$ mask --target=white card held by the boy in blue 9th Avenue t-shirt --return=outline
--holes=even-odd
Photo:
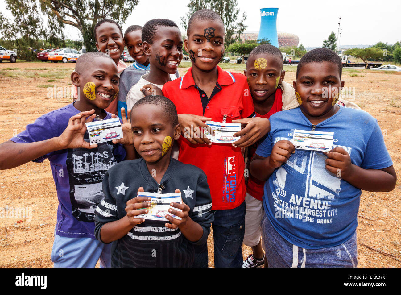
[[[294,130],[292,144],[296,149],[327,152],[332,149],[334,132]]]

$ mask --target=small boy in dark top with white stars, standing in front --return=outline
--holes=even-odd
[[[144,116],[146,114],[146,116]],[[146,96],[132,109],[134,146],[141,159],[109,169],[103,179],[105,195],[96,210],[96,238],[113,242],[113,267],[191,267],[194,246],[207,242],[211,196],[207,178],[195,166],[171,157],[180,137],[177,111],[164,96]],[[124,189],[119,189],[123,187]],[[148,213],[149,197],[140,191],[182,194],[183,203],[171,203],[168,220],[136,218]],[[144,208],[145,207],[145,208]]]

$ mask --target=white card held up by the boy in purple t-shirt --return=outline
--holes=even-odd
[[[123,129],[119,118],[85,123],[89,133],[89,143],[95,144],[123,138]]]

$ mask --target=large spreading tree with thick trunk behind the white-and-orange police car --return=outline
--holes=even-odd
[[[12,0],[7,0],[12,1]],[[35,5],[36,0],[28,0]],[[96,51],[93,28],[103,19],[110,18],[122,24],[139,0],[40,0],[41,9],[49,18],[51,31],[61,31],[66,24],[77,28],[83,37],[86,51]]]

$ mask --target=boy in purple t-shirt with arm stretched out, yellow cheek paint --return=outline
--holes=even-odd
[[[59,199],[54,266],[95,267],[100,258],[101,266],[109,267],[110,246],[95,239],[93,218],[107,169],[134,159],[131,126],[123,116],[122,140],[89,145],[85,121],[110,119],[104,109],[117,97],[119,77],[111,57],[100,52],[81,55],[71,81],[83,99],[41,116],[0,144],[0,167],[49,159]]]

